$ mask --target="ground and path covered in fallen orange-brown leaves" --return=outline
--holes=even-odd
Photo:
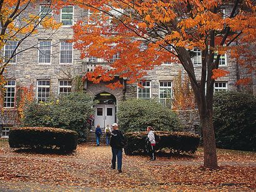
[[[218,150],[219,170],[202,168],[202,149],[192,156],[123,158],[111,170],[109,146],[79,145],[72,155],[14,151],[0,139],[0,191],[255,190],[256,153]]]

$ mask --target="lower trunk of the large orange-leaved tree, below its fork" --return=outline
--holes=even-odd
[[[202,113],[202,112],[200,112]],[[212,114],[200,114],[204,138],[204,166],[210,169],[218,168]]]

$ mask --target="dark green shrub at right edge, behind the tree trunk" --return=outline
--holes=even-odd
[[[256,150],[256,97],[228,91],[214,95],[214,129],[219,148]]]

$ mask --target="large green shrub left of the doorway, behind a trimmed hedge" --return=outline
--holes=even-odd
[[[51,102],[29,103],[22,125],[74,130],[79,135],[79,142],[84,142],[89,130],[87,119],[94,113],[93,105],[93,98],[82,92],[72,92]]]

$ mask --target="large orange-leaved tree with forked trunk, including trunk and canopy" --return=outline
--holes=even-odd
[[[111,69],[97,67],[87,79],[95,83],[115,74],[133,83],[163,61],[179,62],[187,72],[199,107],[204,137],[204,166],[217,168],[212,123],[214,82],[227,71],[219,69],[221,55],[237,57],[254,71],[255,6],[250,0],[105,0],[76,1],[90,9],[89,22],[74,26],[75,47],[82,57],[100,57]],[[200,77],[192,62],[202,53]],[[243,57],[243,55],[247,55]],[[249,57],[250,55],[250,57]],[[116,59],[112,59],[112,58]],[[249,79],[240,80],[240,83]],[[112,87],[121,86],[119,82]]]

